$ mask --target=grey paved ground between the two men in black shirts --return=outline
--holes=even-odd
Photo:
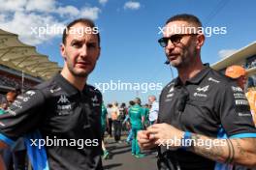
[[[107,140],[107,149],[111,156],[103,160],[105,170],[156,170],[155,153],[144,152],[143,158],[132,156],[131,146],[125,142],[115,143],[112,139]]]

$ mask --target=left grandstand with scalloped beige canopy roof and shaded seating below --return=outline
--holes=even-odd
[[[10,90],[33,87],[60,70],[57,63],[38,53],[35,46],[20,42],[16,34],[0,29],[0,98]]]

